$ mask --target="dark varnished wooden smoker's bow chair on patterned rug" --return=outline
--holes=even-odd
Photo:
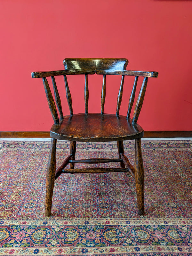
[[[143,137],[143,129],[137,124],[137,120],[140,114],[140,110],[143,104],[144,95],[147,87],[148,77],[157,77],[158,72],[144,72],[144,71],[128,71],[126,66],[128,64],[127,59],[75,59],[67,58],[63,61],[65,70],[60,71],[47,71],[47,72],[33,72],[33,78],[43,78],[44,89],[51,110],[51,114],[54,120],[54,124],[50,130],[51,149],[47,165],[46,176],[46,196],[45,196],[45,215],[51,215],[52,208],[52,195],[54,181],[60,176],[61,173],[100,173],[100,172],[130,172],[136,181],[137,190],[137,204],[138,214],[144,214],[144,198],[143,198],[143,160],[141,154],[141,140]],[[68,75],[84,75],[84,101],[85,101],[85,113],[73,114],[71,93],[68,86]],[[103,84],[101,89],[101,111],[100,113],[88,113],[88,75],[103,75]],[[106,95],[106,76],[107,75],[119,75],[122,76],[119,93],[117,96],[116,114],[105,114],[104,103]],[[50,90],[46,77],[51,76],[54,98]],[[68,101],[70,115],[63,116],[60,95],[55,82],[55,76],[64,76],[66,97]],[[123,85],[125,76],[135,76],[132,92],[128,104],[127,116],[119,115],[119,109],[122,101]],[[134,113],[132,119],[130,118],[131,109],[133,106],[136,86],[138,77],[143,76],[143,82],[140,88],[140,92],[135,104]],[[101,86],[101,85],[100,85]],[[57,108],[56,108],[56,105]],[[57,109],[60,115],[58,117]],[[56,170],[56,142],[59,140],[70,141],[70,152],[63,164]],[[124,155],[124,140],[135,140],[135,166],[133,167],[128,158]],[[76,154],[76,141],[87,142],[105,142],[116,141],[119,158],[118,159],[75,159]],[[120,168],[83,168],[74,169],[75,163],[109,163],[120,162]],[[65,167],[70,164],[69,169]]]

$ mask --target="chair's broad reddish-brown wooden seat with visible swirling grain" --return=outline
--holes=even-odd
[[[53,124],[50,135],[59,140],[119,141],[142,138],[143,129],[126,116],[89,113],[64,116],[60,124]]]

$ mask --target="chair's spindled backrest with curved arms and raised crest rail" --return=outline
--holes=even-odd
[[[82,58],[66,58],[63,60],[65,70],[60,71],[47,71],[47,72],[33,72],[32,77],[34,78],[43,78],[44,89],[47,96],[47,101],[52,113],[52,117],[55,124],[59,124],[59,117],[57,114],[56,105],[60,114],[60,118],[63,119],[63,112],[61,106],[60,95],[57,89],[54,76],[64,76],[66,97],[68,101],[70,115],[73,115],[72,108],[72,99],[71,93],[68,86],[68,75],[85,75],[85,86],[84,86],[84,101],[85,101],[85,114],[88,114],[88,101],[89,101],[89,89],[88,89],[88,75],[99,74],[103,75],[103,84],[101,90],[101,114],[104,114],[104,104],[105,104],[105,95],[106,95],[106,75],[121,75],[121,84],[119,88],[119,93],[117,96],[117,106],[116,106],[116,116],[119,115],[119,110],[122,101],[123,95],[123,86],[124,86],[124,76],[135,76],[135,80],[132,87],[131,96],[128,104],[127,118],[130,118],[133,102],[135,99],[136,86],[138,82],[138,77],[143,76],[143,82],[140,88],[139,96],[137,98],[135,109],[133,113],[132,123],[137,123],[140,110],[143,104],[145,91],[147,87],[148,77],[157,77],[158,72],[147,72],[147,71],[128,71],[126,70],[128,60],[127,59],[82,59]],[[52,84],[54,89],[55,102],[52,97],[52,92],[50,90],[47,76],[52,77]]]

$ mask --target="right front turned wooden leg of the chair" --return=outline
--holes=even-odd
[[[135,140],[135,180],[137,189],[138,214],[144,215],[144,170],[141,153],[141,139]]]

